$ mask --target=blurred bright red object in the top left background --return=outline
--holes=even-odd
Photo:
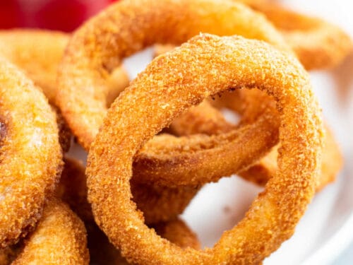
[[[75,30],[114,0],[0,1],[0,28]]]

